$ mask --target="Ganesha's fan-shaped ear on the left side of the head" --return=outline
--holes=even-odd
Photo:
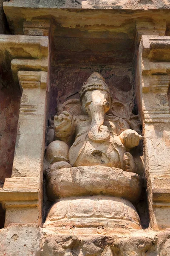
[[[79,99],[68,99],[62,105],[58,105],[57,114],[61,114],[62,111],[67,111],[73,116],[83,115]]]

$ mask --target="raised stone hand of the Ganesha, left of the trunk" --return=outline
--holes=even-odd
[[[72,134],[74,119],[67,111],[63,111],[59,116],[54,116],[54,131],[56,137],[68,137]]]

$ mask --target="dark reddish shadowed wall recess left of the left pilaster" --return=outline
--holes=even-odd
[[[21,92],[13,82],[11,69],[0,67],[0,183],[11,177]]]

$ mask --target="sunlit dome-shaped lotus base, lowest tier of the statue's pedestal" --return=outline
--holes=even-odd
[[[141,229],[133,204],[111,196],[63,198],[51,207],[45,225]]]

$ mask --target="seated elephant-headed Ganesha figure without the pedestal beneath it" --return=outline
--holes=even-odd
[[[134,172],[135,164],[129,151],[142,137],[131,130],[125,120],[120,124],[114,122],[113,115],[105,115],[110,109],[111,97],[105,79],[99,73],[93,73],[83,84],[80,101],[84,115],[72,116],[63,111],[54,116],[55,136],[65,145],[59,141],[52,143],[47,150],[47,159],[51,163],[57,161],[58,168],[60,164],[64,165],[64,160],[65,165],[69,161],[73,167],[109,166]],[[69,157],[64,158],[68,145],[71,145]],[[59,159],[61,151],[64,152]]]

